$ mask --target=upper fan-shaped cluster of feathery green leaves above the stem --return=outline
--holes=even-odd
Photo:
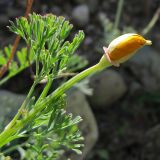
[[[66,41],[72,27],[64,17],[33,14],[28,20],[24,17],[16,19],[16,24],[11,22],[9,28],[31,47],[35,59],[43,65],[38,71],[41,76],[54,77],[66,70],[69,58],[84,39],[84,33],[79,31],[71,42]]]

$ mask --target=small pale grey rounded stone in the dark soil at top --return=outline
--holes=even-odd
[[[89,22],[89,8],[87,5],[79,5],[72,11],[72,17],[79,26],[85,26]]]

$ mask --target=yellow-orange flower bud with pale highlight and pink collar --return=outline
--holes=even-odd
[[[108,46],[103,47],[109,62],[114,66],[119,66],[133,56],[138,49],[145,45],[151,45],[150,40],[144,39],[135,33],[124,34],[114,39]]]

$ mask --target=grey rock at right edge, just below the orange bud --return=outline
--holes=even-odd
[[[126,64],[146,91],[160,89],[160,55],[151,47],[144,47]]]

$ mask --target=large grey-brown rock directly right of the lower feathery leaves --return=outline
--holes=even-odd
[[[82,150],[82,155],[73,154],[70,158],[82,160],[85,159],[85,156],[92,149],[98,139],[97,123],[87,99],[82,92],[76,89],[68,95],[67,111],[73,113],[75,116],[80,115],[82,117],[83,121],[80,123],[80,130],[85,139],[85,147]]]

